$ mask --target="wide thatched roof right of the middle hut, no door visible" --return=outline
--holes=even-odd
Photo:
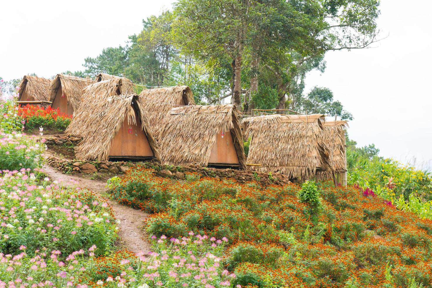
[[[248,169],[274,171],[307,180],[317,170],[328,169],[323,141],[322,114],[265,115],[243,120],[245,136],[251,138]]]

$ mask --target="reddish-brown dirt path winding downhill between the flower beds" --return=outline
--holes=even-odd
[[[66,175],[49,165],[44,165],[43,168],[51,180],[57,180],[59,184],[63,184],[64,186],[88,188],[99,195],[106,190],[105,182],[103,181]],[[78,183],[73,184],[73,182]],[[140,227],[143,226],[143,221],[148,217],[148,214],[137,209],[123,206],[117,202],[111,201],[110,199],[107,200],[114,210],[115,218],[121,221],[119,224],[120,231],[118,232],[118,235],[121,237],[121,244],[134,253],[143,251],[145,255],[147,255],[147,253],[151,251],[151,244],[146,240],[148,239],[148,236]]]

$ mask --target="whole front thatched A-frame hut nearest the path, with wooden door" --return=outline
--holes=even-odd
[[[75,148],[77,159],[159,160],[158,144],[150,131],[148,115],[136,94],[113,93],[112,96],[95,98],[95,102],[83,102],[66,131],[69,135],[83,138]]]

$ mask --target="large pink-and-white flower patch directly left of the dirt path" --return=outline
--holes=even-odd
[[[48,178],[38,182],[22,169],[0,178],[0,252],[17,254],[41,248],[71,253],[97,245],[106,253],[117,238],[107,203],[80,189],[59,187]]]

